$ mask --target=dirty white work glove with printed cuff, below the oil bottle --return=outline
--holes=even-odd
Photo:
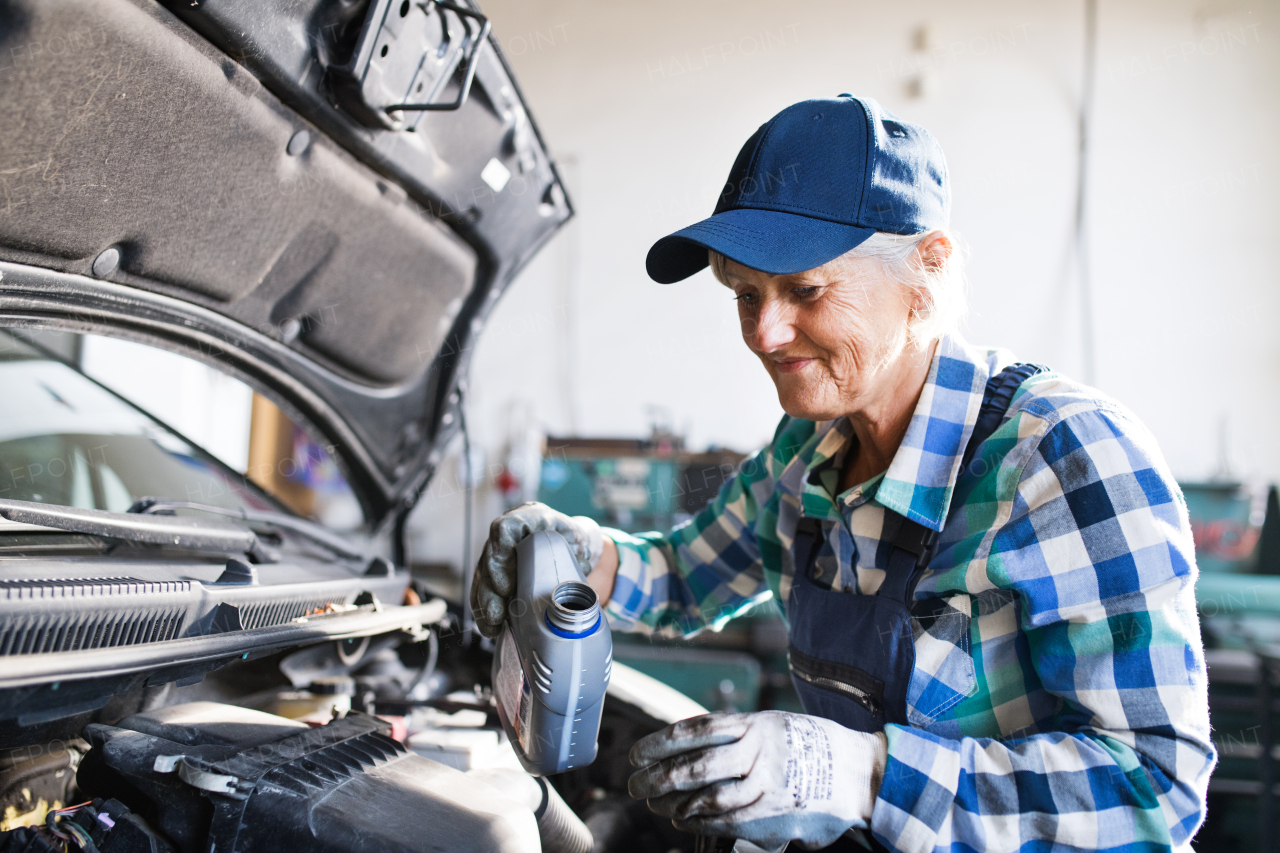
[[[710,713],[636,742],[627,789],[686,833],[818,849],[869,824],[886,748],[823,717]]]

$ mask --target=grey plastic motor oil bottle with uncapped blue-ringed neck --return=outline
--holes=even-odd
[[[612,665],[600,602],[564,537],[525,537],[493,658],[498,717],[525,770],[545,776],[595,761]]]

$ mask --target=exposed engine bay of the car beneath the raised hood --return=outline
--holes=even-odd
[[[458,626],[445,613],[425,634],[308,646],[88,713],[6,720],[0,850],[694,849],[626,793],[630,745],[694,703],[617,665],[596,761],[531,776],[497,719],[488,642]]]

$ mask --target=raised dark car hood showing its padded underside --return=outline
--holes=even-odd
[[[372,525],[407,510],[485,318],[572,213],[456,3],[0,6],[0,325],[211,362],[333,443]]]

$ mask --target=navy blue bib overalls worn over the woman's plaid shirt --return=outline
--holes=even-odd
[[[964,471],[991,437],[1018,391],[1047,368],[1019,364],[987,382],[973,435],[961,457]],[[928,569],[937,534],[892,510],[884,510],[882,540],[892,543],[884,581],[874,596],[850,594],[812,579],[823,530],[818,519],[801,517],[792,556],[795,576],[787,601],[791,622],[791,680],[814,716],[858,731],[881,731],[887,722],[908,725],[906,690],[915,669],[913,611],[927,619],[941,612],[941,598],[913,602]]]

